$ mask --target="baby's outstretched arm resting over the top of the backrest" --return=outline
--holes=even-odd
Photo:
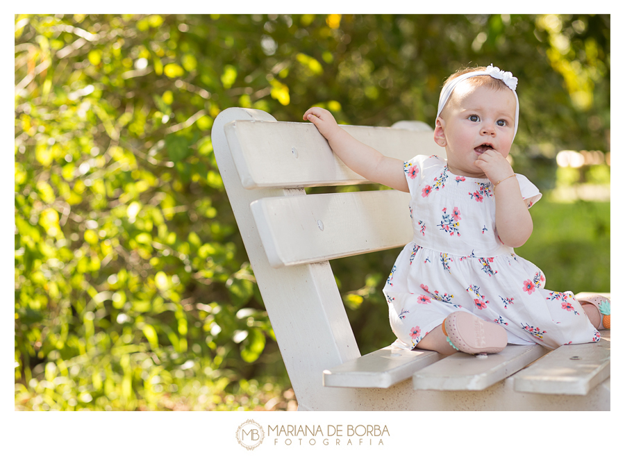
[[[409,192],[401,160],[383,156],[376,149],[353,138],[338,126],[333,115],[324,108],[310,108],[304,113],[303,119],[315,124],[334,153],[354,172],[369,181]]]

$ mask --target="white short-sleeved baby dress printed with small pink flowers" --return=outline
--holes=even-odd
[[[437,156],[404,163],[414,238],[392,267],[383,292],[396,344],[413,349],[454,311],[503,326],[512,344],[599,341],[572,292],[544,289],[544,274],[499,240],[493,185],[456,176]],[[529,207],[542,197],[517,174]]]

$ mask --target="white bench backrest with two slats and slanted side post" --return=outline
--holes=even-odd
[[[444,156],[422,123],[342,127],[386,156]],[[360,352],[328,260],[409,242],[410,196],[396,190],[307,195],[303,188],[367,183],[313,124],[229,108],[211,135],[299,408],[331,410],[347,393],[323,390],[322,372]]]

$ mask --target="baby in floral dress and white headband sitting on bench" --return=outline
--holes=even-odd
[[[553,349],[601,338],[608,299],[546,290],[541,270],[514,253],[530,237],[529,208],[542,197],[506,159],[519,123],[516,86],[492,65],[447,79],[434,129],[447,160],[402,162],[353,138],[323,108],[303,115],[354,172],[410,192],[414,238],[383,290],[406,349],[481,354],[508,342]]]

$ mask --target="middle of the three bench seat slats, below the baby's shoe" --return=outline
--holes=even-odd
[[[548,349],[533,344],[508,344],[499,354],[477,358],[458,352],[412,376],[415,390],[483,390],[519,371]]]

